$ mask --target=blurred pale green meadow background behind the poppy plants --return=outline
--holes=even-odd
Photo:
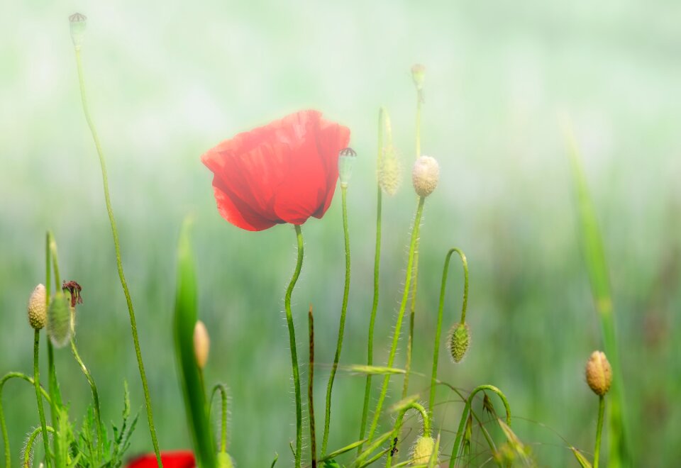
[[[199,313],[212,344],[206,379],[232,393],[229,452],[243,467],[269,466],[275,452],[289,464],[295,427],[282,310],[294,230],[248,233],[223,221],[212,174],[199,161],[239,131],[301,108],[318,108],[352,131],[353,274],[341,364],[359,363],[371,309],[377,109],[389,109],[406,170],[399,193],[384,198],[375,362],[385,362],[416,205],[409,67],[421,62],[423,153],[440,162],[441,182],[421,230],[415,369],[428,372],[442,262],[449,247],[460,247],[470,262],[472,347],[462,364],[441,359],[441,379],[504,390],[516,433],[541,466],[577,466],[568,444],[592,451],[597,398],[583,366],[602,348],[602,335],[580,253],[563,113],[582,147],[604,236],[636,466],[681,458],[681,323],[674,313],[681,306],[680,4],[153,4],[17,1],[0,8],[1,374],[31,370],[26,301],[44,282],[51,229],[62,277],[83,286],[77,340],[103,418],[118,420],[127,379],[140,409],[131,453],[152,448],[99,163],[79,101],[67,17],[80,11],[88,16],[86,85],[162,449],[190,444],[170,324],[175,246],[182,218],[192,214]],[[341,308],[340,196],[303,233],[294,316],[304,361],[306,311],[314,305],[319,427]],[[447,327],[460,311],[462,276],[453,264]],[[72,416],[82,415],[89,387],[68,350],[57,352],[57,372]],[[396,396],[401,381],[394,381]],[[427,385],[411,380],[412,391]],[[331,448],[357,437],[363,389],[362,377],[338,374]],[[438,401],[453,398],[438,391]],[[12,383],[3,402],[16,460],[38,423],[35,394]],[[462,405],[441,408],[434,427],[455,430]],[[449,453],[453,436],[445,439]]]

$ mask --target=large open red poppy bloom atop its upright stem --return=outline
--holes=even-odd
[[[214,174],[218,211],[246,230],[321,218],[333,199],[338,152],[350,130],[300,111],[236,135],[208,150],[201,162]]]

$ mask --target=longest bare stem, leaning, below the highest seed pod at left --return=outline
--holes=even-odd
[[[80,98],[83,106],[83,113],[85,115],[85,120],[87,121],[87,126],[92,133],[92,139],[94,140],[94,145],[97,150],[97,155],[99,155],[99,165],[101,166],[101,179],[104,186],[104,201],[106,203],[106,212],[109,214],[109,223],[111,223],[111,233],[114,236],[114,250],[116,251],[116,266],[118,267],[118,277],[121,279],[121,286],[123,287],[123,294],[126,296],[126,303],[128,304],[128,315],[130,316],[130,328],[133,334],[133,343],[135,345],[135,355],[137,357],[138,368],[140,369],[140,379],[142,380],[142,389],[144,391],[144,401],[147,410],[147,421],[149,423],[149,432],[151,435],[151,442],[154,446],[154,452],[156,454],[156,462],[159,467],[162,467],[161,454],[158,450],[158,442],[156,440],[156,428],[154,426],[154,416],[151,409],[151,397],[149,396],[149,386],[147,384],[147,377],[144,372],[144,363],[142,362],[142,351],[140,350],[140,339],[137,333],[137,321],[135,320],[135,311],[133,310],[133,301],[130,297],[130,291],[128,290],[128,284],[126,282],[126,277],[123,274],[123,262],[121,261],[121,247],[118,244],[118,229],[116,228],[116,220],[114,219],[114,210],[111,208],[111,197],[109,196],[109,177],[106,174],[106,162],[104,161],[104,152],[101,149],[101,144],[99,143],[99,137],[97,136],[96,130],[94,128],[94,123],[92,117],[90,116],[90,111],[87,106],[87,98],[85,96],[85,80],[83,77],[83,67],[80,60],[80,49],[75,49],[76,53],[76,66],[78,69],[78,82],[80,87]]]

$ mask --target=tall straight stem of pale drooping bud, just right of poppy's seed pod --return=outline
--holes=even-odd
[[[381,167],[383,155],[383,116],[384,108],[378,112],[378,157],[377,170]],[[371,316],[369,318],[369,338],[367,340],[367,365],[374,362],[374,325],[376,323],[376,312],[378,310],[379,296],[379,270],[381,263],[381,217],[382,217],[382,190],[380,184],[376,185],[376,249],[374,253],[374,298],[372,299]],[[364,406],[362,408],[362,422],[360,423],[360,440],[364,438],[367,428],[367,415],[369,414],[369,400],[371,394],[371,374],[367,374],[367,382],[364,388]],[[357,454],[362,453],[362,445],[358,447]]]

